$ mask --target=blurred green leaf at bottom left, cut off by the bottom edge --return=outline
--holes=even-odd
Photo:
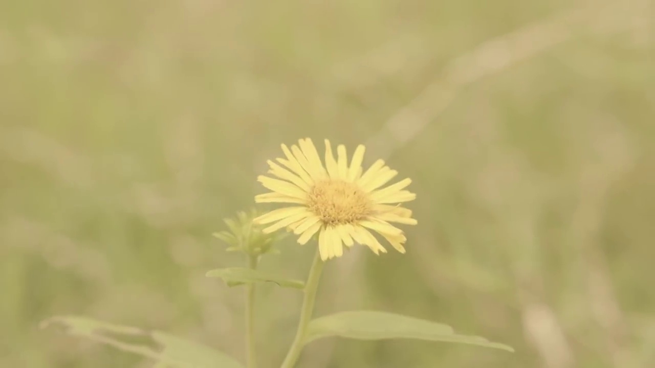
[[[115,325],[81,316],[57,316],[41,322],[41,328],[63,327],[69,335],[94,340],[175,368],[243,368],[233,358],[196,342],[160,331]]]

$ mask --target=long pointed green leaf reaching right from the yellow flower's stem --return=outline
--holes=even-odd
[[[357,340],[418,339],[459,342],[514,352],[510,346],[491,342],[483,337],[458,335],[448,325],[368,310],[341,312],[316,318],[309,324],[305,343],[331,336]]]

